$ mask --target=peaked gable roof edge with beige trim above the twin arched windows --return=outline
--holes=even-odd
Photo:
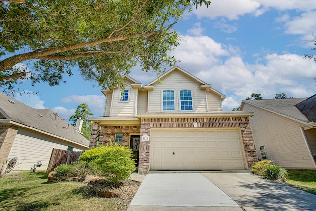
[[[152,86],[154,85],[156,82],[158,82],[159,80],[162,80],[163,78],[166,78],[168,77],[168,75],[170,73],[172,73],[173,71],[175,70],[179,70],[180,72],[182,72],[183,74],[187,75],[188,77],[192,78],[193,80],[197,81],[198,83],[201,84],[201,87],[209,87],[209,90],[212,90],[213,92],[215,92],[216,94],[220,95],[221,98],[222,98],[222,101],[225,99],[225,95],[222,94],[221,92],[215,90],[212,88],[212,85],[211,84],[207,84],[206,82],[200,80],[199,78],[195,77],[194,75],[192,75],[191,73],[181,69],[180,67],[178,66],[175,66],[173,68],[171,68],[170,70],[168,70],[167,72],[165,72],[165,74],[162,74],[161,76],[159,76],[158,78],[156,78],[154,81],[151,81],[150,83],[146,84],[146,86]]]

